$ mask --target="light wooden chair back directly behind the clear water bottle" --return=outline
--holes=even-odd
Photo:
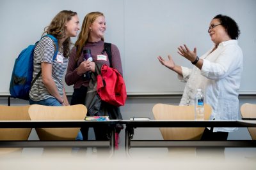
[[[175,106],[156,104],[153,109],[156,120],[195,120],[194,106]],[[204,104],[205,120],[209,120],[212,108]],[[204,127],[161,127],[159,128],[164,140],[200,140]]]

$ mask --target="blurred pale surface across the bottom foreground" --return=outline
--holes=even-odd
[[[99,153],[100,152],[100,153]],[[227,148],[225,155],[205,152],[196,155],[193,148],[131,148],[129,155],[124,148],[112,157],[96,148],[25,148],[21,153],[0,155],[0,169],[256,169],[255,148]]]

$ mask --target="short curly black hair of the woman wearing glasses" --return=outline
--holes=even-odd
[[[227,30],[228,36],[230,36],[231,39],[237,39],[239,37],[240,30],[235,20],[221,14],[216,15],[213,19],[220,20],[221,25]]]

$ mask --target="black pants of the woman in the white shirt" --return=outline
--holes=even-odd
[[[213,132],[213,128],[207,129],[205,127],[204,133],[201,137],[201,141],[227,141],[228,132]],[[196,155],[216,155],[221,157],[225,157],[225,148],[196,148]]]

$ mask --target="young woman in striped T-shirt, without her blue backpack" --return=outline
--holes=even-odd
[[[29,91],[29,104],[41,104],[47,106],[69,105],[63,85],[63,74],[68,64],[70,55],[70,37],[77,36],[79,31],[79,18],[74,11],[60,11],[45,27],[44,34],[51,34],[58,39],[58,46],[51,38],[45,36],[34,52],[33,79],[42,70],[42,74],[36,79]],[[54,52],[58,48],[56,59]]]

